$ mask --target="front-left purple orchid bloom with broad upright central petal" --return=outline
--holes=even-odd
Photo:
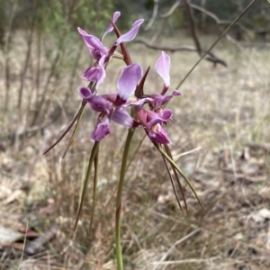
[[[134,94],[136,86],[142,77],[142,68],[139,64],[124,67],[117,83],[117,94],[92,94],[89,88],[81,87],[81,96],[89,103],[94,112],[100,112],[91,139],[100,141],[111,133],[110,120],[127,128],[140,125],[135,121],[125,108],[129,98]]]

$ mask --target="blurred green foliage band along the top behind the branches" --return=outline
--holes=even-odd
[[[216,14],[220,20],[231,21],[250,3],[250,0],[193,0],[191,3]],[[158,1],[158,15],[166,13],[173,4],[175,4],[175,0]],[[122,30],[125,30],[130,27],[130,22],[138,17],[143,17],[148,21],[154,5],[154,0],[1,0],[0,38],[4,39],[4,31],[10,27],[12,15],[14,16],[12,25],[14,29],[28,29],[34,24],[36,31],[59,37],[63,33],[67,34],[67,30],[75,30],[78,26],[87,29],[87,31],[101,34],[112,13],[116,10],[121,11],[121,20],[118,25]],[[268,29],[270,27],[269,12],[270,4],[268,1],[258,1],[248,11],[247,16],[241,20],[241,23],[253,30],[257,28]],[[193,13],[198,26],[202,25],[202,13],[197,10],[194,10]],[[183,6],[178,6],[167,20],[173,30],[188,26]],[[208,16],[204,20],[204,27],[215,24]],[[158,27],[158,23],[155,24]]]

